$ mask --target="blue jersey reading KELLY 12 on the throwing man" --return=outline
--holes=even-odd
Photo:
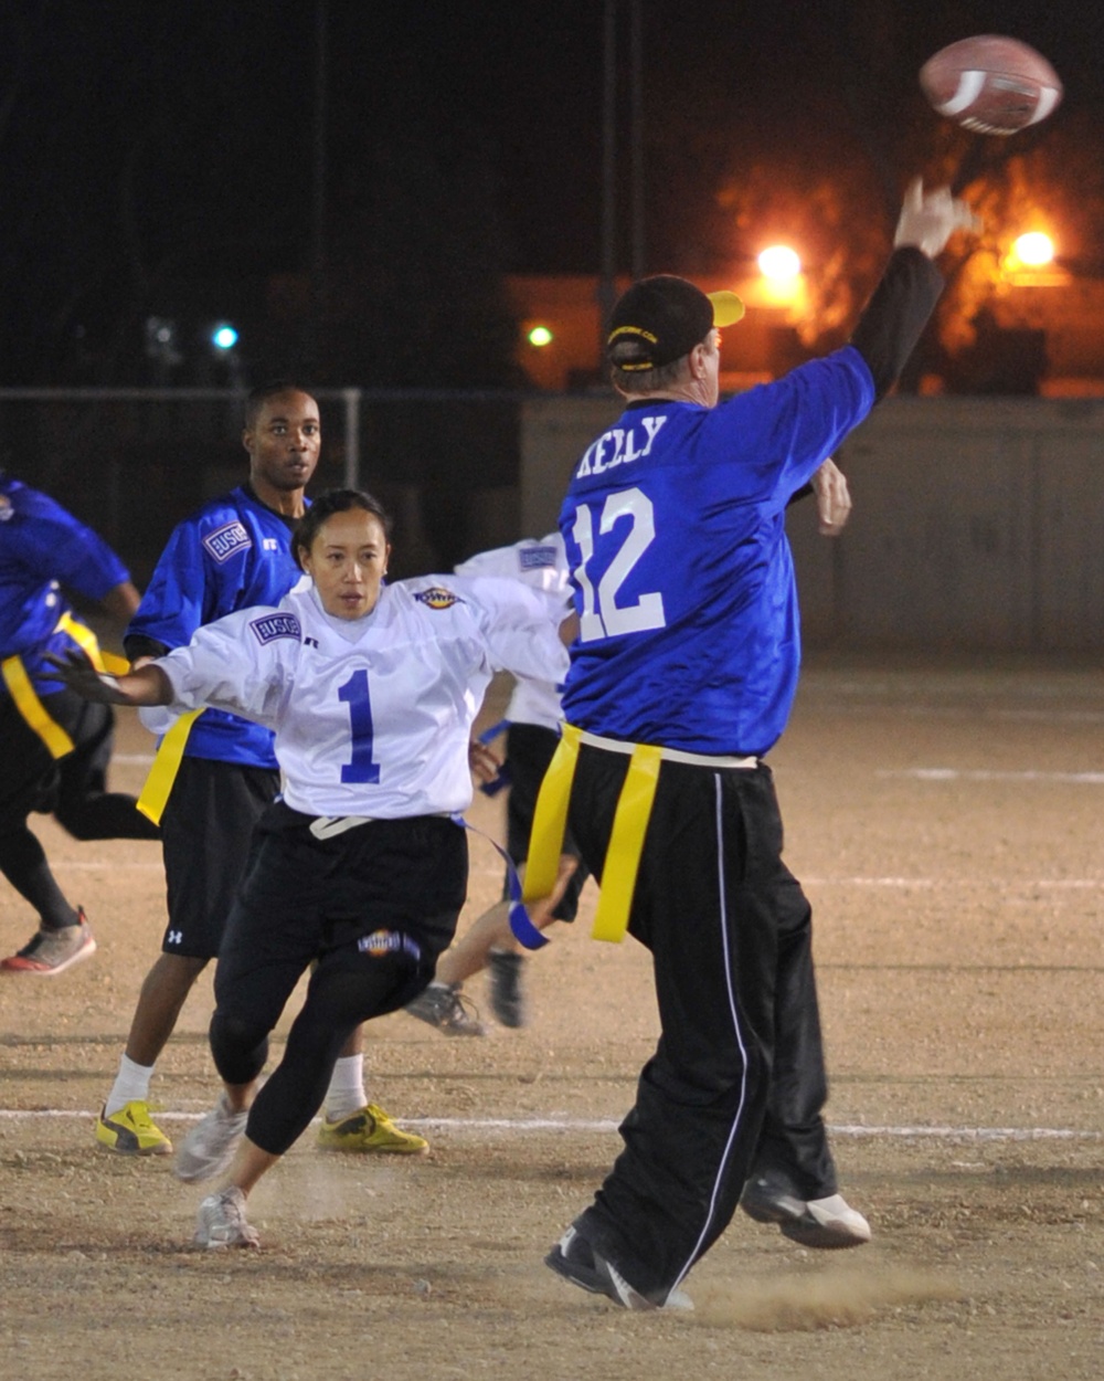
[[[632,403],[588,447],[560,511],[569,724],[702,754],[777,742],[800,661],[785,507],[872,405],[845,347],[716,407]]]

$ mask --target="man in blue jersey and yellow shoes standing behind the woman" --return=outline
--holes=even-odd
[[[277,380],[248,395],[244,423],[248,481],[170,536],[127,630],[126,650],[135,667],[186,645],[201,624],[251,605],[279,603],[299,579],[291,532],[306,508],[304,492],[319,460],[317,403],[295,384]],[[168,924],[161,954],[142,983],[95,1137],[126,1155],[168,1155],[172,1146],[149,1114],[153,1066],[193,983],[218,956],[253,826],[280,779],[272,732],[259,724],[221,710],[204,710],[190,726],[145,722],[166,733],[142,805],[149,802],[156,813],[159,798],[164,800]],[[320,1142],[327,1149],[426,1149],[421,1137],[395,1127],[382,1109],[367,1103],[359,1033],[338,1059],[326,1113]]]

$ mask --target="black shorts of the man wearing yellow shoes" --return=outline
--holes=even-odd
[[[161,950],[217,958],[237,896],[253,827],[280,790],[280,773],[213,758],[181,760],[161,816],[168,925]]]

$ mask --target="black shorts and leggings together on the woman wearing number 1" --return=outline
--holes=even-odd
[[[247,1084],[313,964],[284,1058],[246,1124],[273,1156],[322,1106],[351,1032],[429,983],[468,887],[466,834],[446,816],[371,820],[324,840],[312,819],[283,802],[262,816],[215,969],[211,1054],[228,1084]]]

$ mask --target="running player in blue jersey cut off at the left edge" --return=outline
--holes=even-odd
[[[0,873],[39,914],[30,942],[0,969],[46,978],[88,958],[95,939],[58,887],[28,816],[52,812],[77,840],[157,838],[132,795],[106,789],[110,708],[43,675],[50,653],[76,645],[101,656],[62,587],[101,605],[120,628],[138,608],[130,573],[97,533],[0,471]]]

